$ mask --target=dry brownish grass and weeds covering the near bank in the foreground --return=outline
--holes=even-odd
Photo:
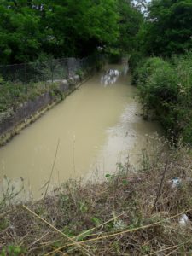
[[[70,180],[40,201],[3,203],[0,255],[190,255],[191,167],[188,148],[154,138],[137,172],[119,164],[103,183]]]

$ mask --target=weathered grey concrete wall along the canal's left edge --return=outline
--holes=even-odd
[[[88,78],[86,77],[86,79]],[[0,120],[0,146],[7,143],[21,129],[38,119],[49,108],[61,102],[61,99],[76,90],[86,79],[80,79],[78,75],[75,75],[67,80],[56,81],[59,84],[57,89],[59,94],[54,91],[47,91],[33,100],[24,102],[15,112]]]

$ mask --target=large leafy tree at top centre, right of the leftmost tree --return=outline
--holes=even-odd
[[[117,38],[114,0],[44,1],[44,9],[44,27],[52,32],[52,42],[47,38],[44,47],[49,50],[56,43],[57,55],[88,55]]]

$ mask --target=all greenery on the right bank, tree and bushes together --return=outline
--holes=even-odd
[[[144,116],[156,118],[174,138],[192,145],[192,2],[153,0],[131,56]]]

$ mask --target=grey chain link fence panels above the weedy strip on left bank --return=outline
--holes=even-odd
[[[97,55],[90,55],[83,59],[63,58],[44,62],[0,65],[0,76],[4,81],[13,84],[53,83],[68,79],[75,74],[89,72],[96,65],[97,58]]]

